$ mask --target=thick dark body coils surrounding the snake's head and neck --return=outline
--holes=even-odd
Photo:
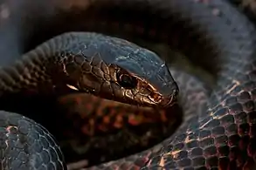
[[[42,21],[42,18],[44,20],[44,18],[52,17],[52,23],[45,22],[48,29],[53,28],[52,25],[65,25],[57,30],[53,29],[52,34],[81,29],[100,31],[118,37],[132,35],[164,42],[182,51],[192,61],[197,61],[200,65],[210,67],[211,71],[217,72],[217,85],[208,99],[207,110],[201,114],[195,113],[190,121],[183,122],[182,128],[179,128],[173,137],[163,141],[160,148],[158,146],[157,149],[149,149],[99,167],[91,167],[92,169],[255,168],[254,100],[256,85],[254,70],[256,64],[254,51],[256,32],[253,24],[238,10],[220,0],[210,2],[192,0],[86,1],[73,8],[70,6],[65,8],[65,3],[55,5],[55,3],[52,4],[53,7],[58,8],[54,9],[57,11],[53,12],[54,15],[36,17],[40,18],[39,21]],[[70,5],[72,6],[72,3]],[[58,16],[65,17],[61,17],[61,20]],[[78,24],[77,22],[85,16],[86,22]],[[33,19],[35,18],[31,17],[31,20],[27,22],[34,21],[34,24],[40,24]],[[68,23],[66,23],[67,20]],[[80,28],[76,28],[75,25],[79,25]],[[48,37],[52,35],[49,33],[41,40]],[[59,42],[61,41],[56,39],[57,46]],[[41,54],[44,56],[43,53]],[[37,60],[33,62],[40,64]],[[217,65],[217,67],[212,68],[212,65]],[[0,78],[6,77],[2,75]],[[5,80],[10,82],[8,79]],[[15,81],[11,83],[13,82],[16,85]],[[23,86],[20,85],[20,87]],[[5,112],[1,114],[0,139],[1,149],[4,151],[6,148],[4,141],[8,136],[6,132],[10,133],[11,130],[10,127],[7,128],[8,131],[3,128],[8,126],[6,120],[9,120],[8,123],[12,121],[14,122],[12,124],[18,123],[20,132],[24,135],[27,134],[26,127],[30,124],[17,119],[16,115],[7,119]],[[28,121],[31,120],[28,119]],[[36,125],[35,128],[40,127],[32,124]],[[38,141],[49,140],[52,150],[55,149],[57,152],[51,149],[45,150],[45,153],[49,152],[52,155],[51,159],[47,156],[44,158],[37,156],[32,162],[36,166],[43,165],[42,168],[48,166],[49,169],[61,169],[64,163],[61,162],[62,156],[57,157],[59,147],[53,143],[51,135],[45,135],[46,131],[43,132],[42,129],[43,127],[38,128],[39,135],[31,133],[31,137]],[[45,142],[43,144],[44,147],[49,145]],[[21,148],[24,147],[21,146]],[[42,149],[36,146],[32,148]],[[13,169],[16,169],[16,166],[25,165],[21,163],[26,162],[22,160],[24,158],[22,152],[17,151],[11,154],[17,154],[17,161],[13,161],[11,165]],[[4,158],[6,157],[1,157],[3,160]],[[22,169],[22,167],[17,169]]]

